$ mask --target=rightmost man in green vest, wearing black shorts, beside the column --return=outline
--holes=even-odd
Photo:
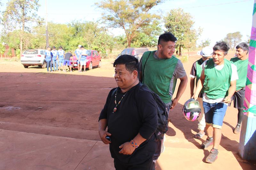
[[[248,51],[249,47],[246,43],[242,42],[236,46],[236,57],[231,58],[230,62],[237,67],[238,80],[236,81],[236,92],[232,96],[231,100],[234,100],[234,107],[238,109],[237,125],[234,130],[235,134],[238,134],[241,130],[241,122],[243,117],[244,108],[244,95],[245,84],[248,66]]]

